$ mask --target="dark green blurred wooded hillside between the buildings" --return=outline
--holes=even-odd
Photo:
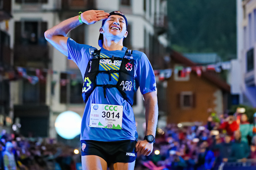
[[[168,0],[168,20],[174,50],[236,55],[235,0]]]

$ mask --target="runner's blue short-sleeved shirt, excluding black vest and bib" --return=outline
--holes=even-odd
[[[87,64],[90,54],[94,52],[95,47],[76,43],[71,38],[68,38],[68,59],[73,60],[81,71],[84,79]],[[120,61],[110,62],[108,58],[124,57],[127,48],[122,50],[108,51],[104,48],[100,51],[99,70],[109,70],[120,68]],[[148,57],[140,52],[133,51],[134,57],[134,90],[137,91],[140,87],[142,94],[156,90],[156,79],[154,71],[148,60]],[[99,73],[97,75],[96,84],[116,84],[118,81],[118,73],[111,74],[109,81],[108,74]],[[81,89],[82,92],[82,89]],[[89,127],[90,107],[92,103],[110,104],[123,106],[122,129],[107,129]],[[138,133],[132,106],[122,97],[121,93],[116,88],[106,88],[106,98],[102,87],[96,87],[86,102],[84,115],[81,124],[80,140],[97,140],[97,141],[118,141],[118,140],[137,140]]]

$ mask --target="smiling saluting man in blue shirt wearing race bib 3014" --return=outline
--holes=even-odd
[[[66,35],[70,30],[102,20],[98,51]],[[153,150],[158,119],[156,81],[146,55],[123,46],[127,20],[119,11],[85,11],[45,32],[45,38],[79,67],[86,103],[81,125],[82,168],[134,169],[137,152]],[[137,141],[132,111],[133,95],[140,87],[146,105],[146,136]]]

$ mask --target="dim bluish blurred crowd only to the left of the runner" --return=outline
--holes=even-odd
[[[51,138],[25,138],[2,130],[0,170],[76,170],[74,148]]]

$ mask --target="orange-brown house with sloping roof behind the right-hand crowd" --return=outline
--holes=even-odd
[[[205,124],[212,112],[222,115],[230,86],[215,71],[203,70],[176,51],[170,57],[174,71],[167,80],[167,122]]]

